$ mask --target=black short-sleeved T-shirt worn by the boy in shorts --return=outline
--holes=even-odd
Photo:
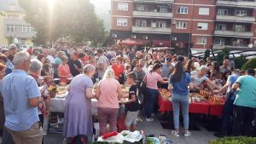
[[[137,101],[138,89],[136,85],[131,85],[131,88],[129,89],[129,100],[131,100],[131,95],[136,96],[136,101],[125,105],[125,107],[127,108],[127,111],[137,112],[140,109],[140,107]]]

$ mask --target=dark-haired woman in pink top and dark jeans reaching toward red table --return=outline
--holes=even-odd
[[[159,63],[154,64],[153,69],[145,76],[144,81],[146,82],[146,93],[145,96],[145,109],[146,109],[146,121],[154,121],[151,118],[151,113],[153,112],[154,103],[157,101],[159,95],[157,83],[168,84],[168,81],[160,76],[162,66]]]

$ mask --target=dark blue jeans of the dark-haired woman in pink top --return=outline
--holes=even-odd
[[[157,101],[159,92],[157,89],[148,89],[145,99],[145,110],[146,110],[146,118],[151,118],[151,113],[153,112],[154,102]]]

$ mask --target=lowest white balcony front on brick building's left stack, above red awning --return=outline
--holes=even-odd
[[[132,26],[132,32],[170,34],[171,28]]]

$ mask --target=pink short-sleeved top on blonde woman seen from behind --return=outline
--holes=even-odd
[[[98,107],[119,108],[119,81],[113,78],[102,79],[99,82],[99,87]]]

